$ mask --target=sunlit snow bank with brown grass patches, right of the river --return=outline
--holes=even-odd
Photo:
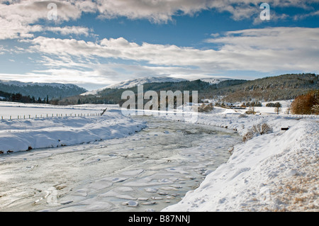
[[[227,163],[162,211],[318,211],[319,120],[277,115],[200,114],[197,123],[237,130],[267,123],[273,132],[236,145]],[[177,115],[165,118],[183,120]],[[281,128],[289,128],[281,131]]]

